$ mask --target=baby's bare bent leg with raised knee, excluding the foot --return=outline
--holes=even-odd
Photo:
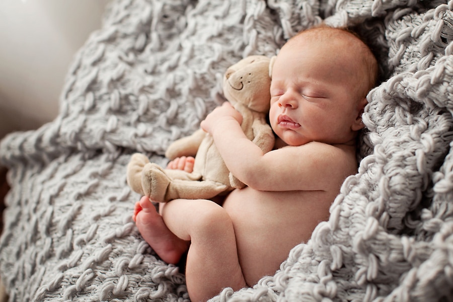
[[[191,241],[186,283],[191,300],[204,301],[224,287],[246,286],[228,213],[209,200],[176,199],[165,204],[162,216],[179,238]]]

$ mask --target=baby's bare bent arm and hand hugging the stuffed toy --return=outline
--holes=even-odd
[[[213,136],[226,167],[249,187],[261,191],[325,190],[341,185],[355,172],[351,150],[325,143],[263,153],[247,139],[241,121],[240,113],[225,103],[209,114],[201,127]]]

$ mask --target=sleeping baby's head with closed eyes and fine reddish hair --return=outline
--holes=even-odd
[[[356,35],[317,26],[280,50],[272,67],[270,123],[289,145],[355,144],[378,64]]]

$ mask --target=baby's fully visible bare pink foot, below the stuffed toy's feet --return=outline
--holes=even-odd
[[[143,239],[167,263],[177,264],[189,243],[173,234],[149,198],[135,203],[133,219]]]

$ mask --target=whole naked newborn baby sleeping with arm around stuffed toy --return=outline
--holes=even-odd
[[[177,263],[188,249],[193,301],[273,275],[329,218],[340,186],[357,171],[356,138],[377,73],[376,59],[357,36],[317,26],[291,38],[273,64],[273,150],[263,153],[245,137],[242,116],[228,103],[202,121],[226,166],[247,186],[219,203],[160,203],[159,213],[143,197],[134,212],[141,235],[164,261]],[[191,170],[193,159],[169,167]]]

